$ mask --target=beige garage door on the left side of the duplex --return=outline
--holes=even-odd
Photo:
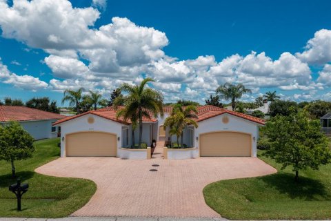
[[[102,132],[80,132],[66,136],[67,157],[105,157],[117,155],[117,136]]]

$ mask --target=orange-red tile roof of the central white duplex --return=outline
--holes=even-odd
[[[121,107],[119,107],[119,108],[121,108]],[[163,111],[164,111],[164,113],[171,113],[172,108],[173,108],[172,106],[165,106],[163,108]],[[265,124],[264,119],[260,119],[260,118],[257,118],[257,117],[252,117],[250,115],[245,115],[243,113],[238,113],[238,112],[235,112],[235,111],[229,111],[229,110],[219,108],[219,107],[216,107],[216,106],[211,106],[211,105],[199,106],[198,107],[197,122],[201,122],[201,121],[203,121],[205,119],[209,119],[211,117],[216,117],[217,115],[222,115],[223,113],[228,113],[228,114],[234,115],[236,117],[241,117],[243,119],[247,119],[247,120],[249,120],[251,122],[255,122],[257,124],[262,124],[262,125]],[[63,122],[67,122],[70,119],[75,119],[77,117],[81,117],[81,116],[87,115],[87,114],[97,115],[99,117],[110,119],[114,122],[119,122],[121,124],[127,124],[127,125],[131,124],[130,120],[124,121],[123,117],[117,118],[116,117],[116,111],[114,110],[113,107],[106,107],[106,108],[99,109],[97,111],[88,111],[88,112],[82,113],[80,115],[75,115],[75,116],[72,116],[72,117],[67,117],[65,119],[60,119],[59,121],[55,122],[54,125],[61,124]],[[148,117],[143,117],[143,122],[157,122],[157,119],[155,119],[154,117],[150,117],[150,119]]]

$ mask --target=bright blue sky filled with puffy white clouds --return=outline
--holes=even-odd
[[[80,86],[108,97],[142,76],[157,79],[151,86],[167,101],[202,103],[226,81],[252,88],[248,101],[268,90],[297,101],[329,99],[330,6],[0,0],[0,99],[60,102],[64,89]]]

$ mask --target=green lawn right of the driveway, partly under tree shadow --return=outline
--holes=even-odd
[[[205,202],[232,220],[314,220],[331,218],[331,165],[319,171],[301,171],[294,182],[290,168],[259,158],[279,172],[263,177],[223,180],[203,189]]]

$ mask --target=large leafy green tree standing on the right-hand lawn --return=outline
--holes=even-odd
[[[310,120],[304,111],[273,117],[264,132],[271,142],[265,155],[282,164],[282,169],[292,166],[296,181],[300,170],[318,170],[331,160],[328,137],[321,133],[319,121]]]

